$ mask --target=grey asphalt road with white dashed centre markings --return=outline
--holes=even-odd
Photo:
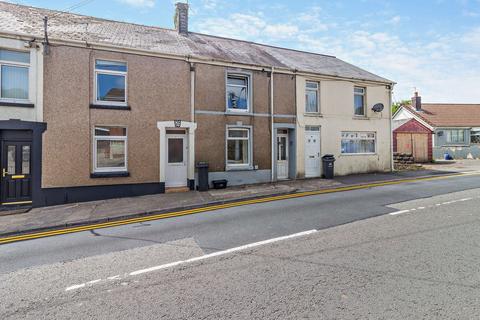
[[[479,186],[423,181],[0,246],[0,318],[476,318]],[[320,231],[222,252],[306,230]]]

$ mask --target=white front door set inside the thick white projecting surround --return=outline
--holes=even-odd
[[[167,188],[186,187],[188,174],[188,153],[186,134],[167,134]]]

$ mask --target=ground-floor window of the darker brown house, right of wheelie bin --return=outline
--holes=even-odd
[[[251,128],[227,127],[227,169],[252,168]]]

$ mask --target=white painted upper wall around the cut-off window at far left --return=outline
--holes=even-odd
[[[43,121],[43,49],[27,48],[25,40],[0,37],[0,48],[30,51],[29,103],[35,108],[0,106],[0,120],[20,119],[24,121]],[[2,101],[0,99],[0,101]]]

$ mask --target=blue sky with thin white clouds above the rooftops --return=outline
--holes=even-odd
[[[174,0],[16,0],[173,28]],[[190,30],[334,55],[393,80],[394,101],[480,103],[480,0],[190,0]]]

